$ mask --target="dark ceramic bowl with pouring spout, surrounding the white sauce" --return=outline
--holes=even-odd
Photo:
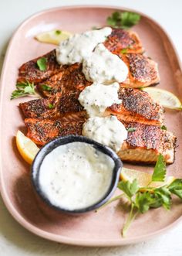
[[[110,184],[110,188],[108,189],[106,194],[103,196],[101,200],[94,203],[93,205],[86,208],[79,209],[79,210],[66,210],[64,208],[56,207],[52,205],[52,203],[49,201],[49,199],[45,196],[45,194],[42,192],[42,190],[39,187],[39,170],[40,170],[40,166],[42,165],[42,161],[45,158],[45,155],[48,155],[49,152],[52,152],[53,149],[57,148],[60,145],[65,145],[72,142],[84,142],[84,143],[93,145],[93,147],[99,150],[100,152],[103,152],[104,154],[109,155],[114,162],[113,177]],[[110,199],[110,197],[113,195],[116,189],[117,183],[120,178],[120,170],[122,167],[123,167],[123,163],[121,162],[118,155],[116,155],[116,153],[113,152],[111,148],[108,148],[102,144],[99,144],[98,142],[93,141],[92,139],[89,139],[83,136],[69,135],[66,137],[56,138],[51,142],[47,143],[45,146],[43,146],[40,149],[39,153],[36,155],[32,163],[32,183],[35,188],[35,193],[37,194],[37,196],[39,196],[39,199],[41,199],[47,204],[47,206],[57,211],[61,211],[65,213],[86,213],[91,210],[96,210],[97,208],[101,207],[104,203],[106,203],[107,200]]]

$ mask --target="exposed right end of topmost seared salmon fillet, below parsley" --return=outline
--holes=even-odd
[[[136,32],[129,30],[113,29],[104,45],[111,53],[115,54],[120,54],[122,50],[127,53],[144,52],[139,36]]]

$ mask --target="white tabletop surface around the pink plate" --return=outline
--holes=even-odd
[[[117,5],[136,9],[157,20],[168,32],[182,60],[181,0],[0,0],[0,68],[12,32],[29,15],[61,5]],[[10,159],[7,159],[9,161]],[[105,232],[105,230],[103,230]],[[182,256],[182,223],[150,241],[123,247],[89,248],[45,241],[21,227],[0,197],[0,256]]]

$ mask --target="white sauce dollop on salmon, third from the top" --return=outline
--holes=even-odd
[[[121,103],[117,93],[119,88],[120,84],[118,83],[107,86],[92,84],[79,94],[79,103],[84,107],[90,118],[103,116],[107,107],[115,103]]]

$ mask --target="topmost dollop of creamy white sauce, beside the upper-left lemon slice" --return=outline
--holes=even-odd
[[[62,41],[56,49],[59,64],[70,65],[86,60],[98,43],[103,43],[112,32],[110,27],[75,34]]]

